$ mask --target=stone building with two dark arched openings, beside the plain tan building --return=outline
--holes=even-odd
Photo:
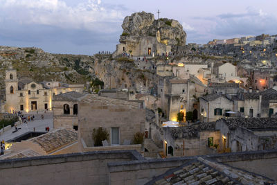
[[[54,128],[66,127],[78,130],[78,100],[85,96],[76,91],[53,96]]]

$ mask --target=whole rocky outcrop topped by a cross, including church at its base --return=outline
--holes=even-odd
[[[185,46],[186,32],[174,19],[154,19],[148,12],[135,12],[125,17],[114,55],[134,56],[162,55],[171,51],[171,46]]]

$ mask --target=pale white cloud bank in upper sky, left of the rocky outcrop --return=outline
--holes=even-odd
[[[115,30],[108,24],[123,19],[122,11],[118,10],[120,7],[105,6],[100,0],[88,0],[77,6],[68,6],[62,0],[0,0],[0,4],[2,21],[22,25],[41,24],[111,33]]]

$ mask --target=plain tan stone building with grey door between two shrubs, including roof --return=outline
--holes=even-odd
[[[145,109],[139,103],[88,94],[80,98],[78,103],[78,121],[81,151],[141,151],[141,145],[131,144],[136,132],[145,132]],[[93,129],[99,127],[109,133],[107,146],[94,146]]]

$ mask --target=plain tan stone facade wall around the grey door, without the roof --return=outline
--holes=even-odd
[[[78,136],[84,139],[87,146],[93,146],[94,128],[103,127],[109,132],[108,143],[111,144],[111,127],[119,127],[120,145],[124,140],[134,139],[136,132],[145,131],[145,109],[131,109],[118,105],[101,106],[80,103],[78,109]]]

